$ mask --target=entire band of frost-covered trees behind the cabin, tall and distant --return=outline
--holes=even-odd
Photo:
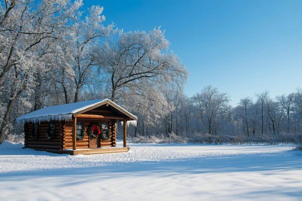
[[[0,0],[0,143],[22,133],[21,115],[98,98],[137,115],[130,137],[301,133],[301,90],[237,107],[212,86],[188,97],[186,68],[163,31],[124,32],[102,12],[80,0]]]

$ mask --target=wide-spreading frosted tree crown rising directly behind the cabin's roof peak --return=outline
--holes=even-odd
[[[187,71],[177,55],[168,51],[169,46],[170,42],[160,29],[120,31],[117,39],[106,41],[98,61],[107,75],[111,99],[118,99],[121,91],[129,87],[133,90],[140,83],[146,85],[165,80],[181,84]]]

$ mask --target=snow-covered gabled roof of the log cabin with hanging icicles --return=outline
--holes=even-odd
[[[112,102],[108,98],[106,99],[97,99],[97,100],[87,100],[78,103],[71,103],[71,104],[64,104],[58,106],[50,106],[44,107],[40,110],[28,113],[21,117],[18,117],[17,123],[24,124],[25,122],[43,122],[43,121],[70,121],[72,115],[77,113],[80,114],[81,111],[86,112],[87,109],[94,109],[96,107],[102,106],[104,104],[109,104],[115,109],[119,110],[121,113],[127,115],[132,120],[137,120],[137,117],[123,109],[122,107],[118,106],[116,103]]]

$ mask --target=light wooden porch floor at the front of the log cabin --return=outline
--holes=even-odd
[[[128,152],[127,147],[100,147],[95,149],[65,149],[61,150],[61,153],[64,154],[70,154],[70,155],[78,155],[78,154],[84,154],[84,155],[91,155],[91,154],[108,154],[108,153],[122,153],[122,152]]]

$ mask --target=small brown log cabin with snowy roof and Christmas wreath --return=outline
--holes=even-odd
[[[136,121],[109,99],[44,107],[17,118],[24,125],[24,148],[71,155],[127,152],[127,126]],[[116,144],[117,122],[123,147]]]

